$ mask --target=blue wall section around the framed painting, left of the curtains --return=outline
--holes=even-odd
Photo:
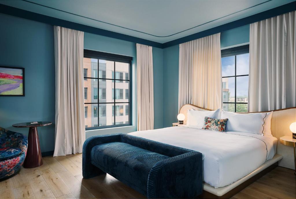
[[[0,126],[28,135],[12,124],[54,122],[54,34],[52,25],[0,14],[0,65],[25,68],[25,97],[0,97]],[[54,149],[54,125],[38,128],[41,151]]]

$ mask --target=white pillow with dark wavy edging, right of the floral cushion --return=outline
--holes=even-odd
[[[221,112],[221,119],[228,118],[226,131],[237,131],[263,135],[264,118],[267,113]]]

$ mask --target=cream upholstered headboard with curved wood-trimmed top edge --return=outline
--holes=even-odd
[[[205,109],[192,104],[185,104],[181,107],[179,111],[179,113],[183,113],[185,115],[184,123],[186,123],[187,121],[187,110],[192,108],[194,110],[210,110],[210,109]],[[265,111],[265,112],[270,112],[270,111]],[[265,112],[260,112],[260,113],[265,113]],[[279,166],[292,168],[292,169],[295,169],[293,147],[282,145],[279,142],[279,138],[285,135],[292,137],[292,132],[290,131],[289,126],[291,123],[295,121],[296,121],[296,107],[274,110],[271,118],[271,133],[274,137],[278,139],[276,153],[283,155],[283,159],[279,162]]]

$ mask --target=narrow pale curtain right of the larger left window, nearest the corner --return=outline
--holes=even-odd
[[[138,131],[154,129],[152,47],[137,44]]]

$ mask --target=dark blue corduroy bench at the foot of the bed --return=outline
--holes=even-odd
[[[93,136],[83,144],[83,178],[108,173],[147,198],[202,193],[202,154],[128,134]]]

